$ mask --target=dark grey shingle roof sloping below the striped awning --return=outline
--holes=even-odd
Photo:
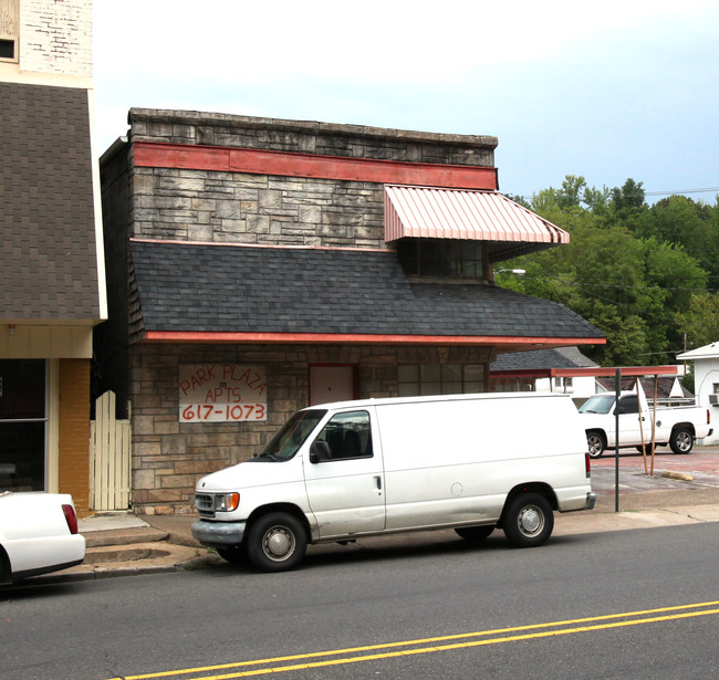
[[[133,241],[146,331],[603,338],[567,307],[411,282],[394,252]]]

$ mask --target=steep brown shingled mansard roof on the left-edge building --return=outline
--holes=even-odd
[[[94,323],[101,293],[87,91],[0,83],[0,316]]]

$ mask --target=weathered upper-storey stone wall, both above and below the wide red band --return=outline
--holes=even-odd
[[[492,167],[497,139],[302,121],[132,109],[131,142]],[[131,150],[132,154],[132,150]],[[131,160],[132,165],[132,160]],[[133,167],[131,237],[385,248],[382,184]]]

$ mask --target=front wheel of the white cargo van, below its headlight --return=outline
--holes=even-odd
[[[285,512],[258,517],[249,527],[247,556],[262,572],[286,572],[296,567],[308,550],[302,523]]]

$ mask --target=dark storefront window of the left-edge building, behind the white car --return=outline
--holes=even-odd
[[[45,362],[0,360],[0,490],[45,488]]]

